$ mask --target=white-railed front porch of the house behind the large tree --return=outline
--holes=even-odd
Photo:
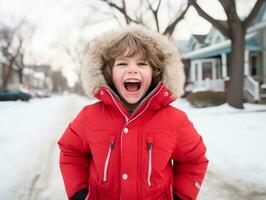
[[[266,35],[266,30],[265,30]],[[266,50],[258,43],[257,33],[246,36],[244,55],[244,94],[249,101],[266,99]],[[183,55],[190,60],[186,91],[225,91],[230,67],[230,41],[195,50]]]

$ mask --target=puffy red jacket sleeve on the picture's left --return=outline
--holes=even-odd
[[[90,149],[84,138],[85,108],[69,124],[58,141],[60,148],[60,170],[68,198],[88,188]]]

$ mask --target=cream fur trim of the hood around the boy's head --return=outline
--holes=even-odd
[[[102,53],[104,49],[108,48],[112,40],[125,32],[137,32],[144,38],[152,39],[158,48],[165,55],[168,55],[163,69],[162,82],[172,92],[173,97],[180,97],[184,93],[185,75],[179,51],[166,36],[152,32],[140,25],[129,25],[105,33],[90,42],[81,69],[81,80],[85,93],[93,98],[100,87],[108,86],[102,71]]]

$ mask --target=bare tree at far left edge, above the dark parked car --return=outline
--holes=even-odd
[[[3,84],[6,88],[13,72],[18,73],[19,82],[23,82],[25,42],[32,36],[34,28],[25,20],[11,27],[0,26],[0,65],[3,68]]]

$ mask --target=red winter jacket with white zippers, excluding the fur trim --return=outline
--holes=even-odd
[[[160,83],[130,115],[107,87],[59,140],[68,197],[88,188],[89,200],[196,199],[206,148],[186,114]]]

